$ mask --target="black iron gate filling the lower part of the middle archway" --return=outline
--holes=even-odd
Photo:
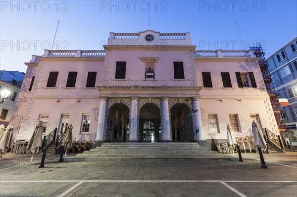
[[[161,119],[139,119],[139,141],[161,142]]]

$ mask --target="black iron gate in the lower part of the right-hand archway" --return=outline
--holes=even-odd
[[[194,131],[192,117],[187,122],[171,121],[173,142],[194,142]]]

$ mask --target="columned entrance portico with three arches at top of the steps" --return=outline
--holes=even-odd
[[[120,137],[119,139],[121,139],[121,141],[172,142],[172,138],[176,136],[176,133],[172,132],[173,122],[170,117],[176,118],[178,117],[177,114],[180,113],[179,108],[175,108],[175,110],[171,111],[171,108],[176,104],[188,106],[186,119],[191,120],[189,122],[187,121],[187,124],[190,123],[187,127],[187,132],[191,129],[192,133],[190,131],[190,133],[187,134],[187,140],[184,139],[182,141],[193,142],[203,140],[203,136],[198,132],[200,130],[198,130],[198,128],[201,128],[201,120],[199,119],[201,118],[200,108],[197,104],[200,87],[100,86],[98,89],[102,96],[100,100],[96,138],[96,141],[100,141],[99,144],[106,141],[110,135],[107,133],[108,128],[110,129],[110,121],[108,121],[108,118],[109,120],[119,122],[119,118],[121,117],[113,117],[116,115],[115,109],[111,110],[112,106],[120,106],[119,104],[125,106],[121,107],[121,109],[127,109],[125,110],[125,114],[129,113],[129,118],[127,115],[120,121],[121,125],[123,125],[123,121],[127,120],[124,125],[127,137]],[[187,95],[187,97],[183,98],[183,95]],[[116,128],[117,130],[119,129],[118,126]],[[121,129],[123,129],[123,126],[121,126]],[[179,130],[179,132],[182,130]],[[113,133],[118,132],[119,131],[113,131]],[[181,133],[181,135],[185,136],[186,131],[183,132],[184,133]],[[123,132],[121,131],[119,133]],[[116,139],[117,138],[118,136],[116,136]],[[110,137],[108,139],[110,140]],[[114,136],[113,139],[115,139]]]

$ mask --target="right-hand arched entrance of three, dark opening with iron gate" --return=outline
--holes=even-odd
[[[194,131],[190,109],[183,104],[171,108],[171,130],[173,142],[193,142]]]

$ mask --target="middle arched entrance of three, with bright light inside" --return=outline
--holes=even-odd
[[[154,104],[148,103],[144,105],[140,110],[139,141],[161,141],[160,110]]]

